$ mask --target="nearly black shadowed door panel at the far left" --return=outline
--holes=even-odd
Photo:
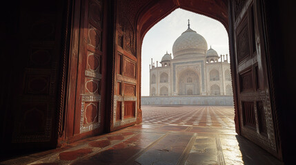
[[[19,10],[12,28],[17,31],[12,48],[15,50],[5,55],[12,57],[6,61],[12,77],[6,86],[12,93],[6,104],[11,109],[3,114],[3,144],[8,150],[55,147],[62,37],[62,11],[57,8],[60,5],[59,1],[16,2]]]

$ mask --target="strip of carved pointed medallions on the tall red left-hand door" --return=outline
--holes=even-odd
[[[81,26],[81,65],[77,91],[77,110],[81,116],[76,122],[75,134],[93,131],[101,126],[101,21],[103,19],[102,1],[83,1],[83,21]],[[79,108],[80,107],[80,108]],[[78,111],[79,112],[79,111]],[[79,131],[77,131],[79,128]]]

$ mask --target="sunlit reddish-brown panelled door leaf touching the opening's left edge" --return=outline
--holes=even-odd
[[[135,124],[137,117],[139,117],[137,114],[139,58],[136,53],[135,18],[125,16],[128,12],[122,9],[124,1],[117,1],[117,3],[115,76],[110,131]]]

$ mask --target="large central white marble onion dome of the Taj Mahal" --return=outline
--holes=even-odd
[[[197,54],[206,54],[208,43],[203,36],[188,28],[178,37],[174,45],[172,45],[172,55],[174,58],[181,56],[196,56]]]

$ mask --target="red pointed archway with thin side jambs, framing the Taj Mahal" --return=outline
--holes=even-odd
[[[165,1],[152,1],[147,3],[145,7],[141,8],[137,13],[136,25],[137,28],[137,53],[141,54],[141,45],[144,39],[145,34],[152,28],[156,23],[168,16],[172,11],[177,8],[188,10],[190,12],[195,12],[197,14],[202,14],[206,17],[210,17],[222,23],[226,28],[226,31],[229,34],[229,4],[228,1],[179,1],[179,0],[165,0]],[[228,37],[230,40],[230,36]],[[233,58],[233,46],[232,41],[228,42],[230,44],[230,61],[234,61]],[[139,58],[139,67],[138,69],[141,72],[141,56]],[[230,63],[231,70],[235,69],[234,65]],[[233,75],[233,81],[236,81],[235,74]],[[141,85],[141,81],[138,81],[138,84]],[[235,128],[237,133],[240,133],[239,129],[239,113],[237,113],[237,94],[236,94],[236,83],[233,83],[233,93],[235,100]],[[141,90],[138,91],[138,96],[141,96]],[[138,98],[141,100],[140,98]],[[140,106],[140,105],[139,105]],[[140,107],[139,107],[139,111]],[[141,119],[140,119],[141,120]]]

